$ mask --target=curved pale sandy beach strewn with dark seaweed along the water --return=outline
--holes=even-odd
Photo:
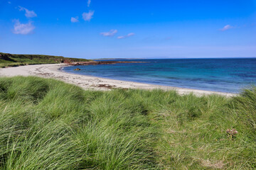
[[[70,74],[62,72],[61,67],[65,67],[65,64],[38,64],[27,65],[20,67],[9,67],[0,69],[0,77],[14,77],[14,76],[37,76],[44,78],[53,78],[65,81],[69,84],[75,84],[82,89],[95,89],[95,90],[110,90],[112,88],[123,89],[164,89],[164,90],[176,90],[178,94],[194,93],[197,96],[208,94],[219,94],[223,96],[235,96],[236,94],[215,92],[215,91],[203,91],[196,89],[183,89],[172,86],[158,86],[153,84],[142,84],[132,81],[119,81],[113,79],[103,79],[99,77],[90,77],[79,74]]]

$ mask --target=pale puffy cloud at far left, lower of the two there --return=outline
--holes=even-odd
[[[28,23],[20,23],[19,20],[14,20],[14,22],[14,34],[26,35],[32,33],[33,30],[36,28],[35,26],[32,25],[31,21],[29,21]]]

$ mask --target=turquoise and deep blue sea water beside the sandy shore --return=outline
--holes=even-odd
[[[108,79],[230,93],[239,93],[243,88],[256,85],[256,58],[127,61],[144,63],[72,66],[64,67],[63,71]],[[74,71],[75,68],[81,70]]]

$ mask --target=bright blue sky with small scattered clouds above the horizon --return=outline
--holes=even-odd
[[[0,0],[0,52],[256,57],[256,0]]]

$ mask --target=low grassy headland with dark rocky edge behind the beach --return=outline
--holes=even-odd
[[[61,62],[87,62],[90,60],[68,58],[53,55],[12,55],[9,53],[0,52],[0,68],[1,67],[16,67],[26,64],[57,64]]]

